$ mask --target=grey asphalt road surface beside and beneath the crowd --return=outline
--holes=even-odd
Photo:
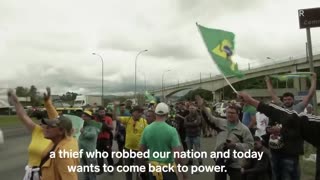
[[[202,138],[201,145],[203,151],[212,151],[214,146],[214,138]],[[6,180],[19,180],[23,178],[24,167],[27,162],[27,147],[30,142],[30,135],[27,133],[20,133],[17,136],[10,136],[5,139],[5,144],[0,145],[0,179]],[[114,142],[113,147],[117,147]],[[115,160],[117,162],[117,160]],[[197,161],[195,160],[195,163]],[[204,165],[212,165],[212,159],[204,159]],[[82,174],[79,174],[81,179]],[[102,179],[125,179],[124,173],[115,172],[113,175],[104,173],[99,175],[98,180]],[[190,180],[212,180],[214,179],[213,173],[199,173],[189,175]]]

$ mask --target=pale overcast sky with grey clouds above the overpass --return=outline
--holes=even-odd
[[[320,7],[319,0],[1,0],[0,88],[18,85],[54,94],[134,91],[144,79],[150,89],[219,74],[195,25],[236,34],[240,68],[305,53],[306,32],[298,9]],[[320,53],[320,27],[311,30]],[[270,62],[269,62],[270,63]]]

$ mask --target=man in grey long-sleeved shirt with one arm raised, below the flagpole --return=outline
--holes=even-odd
[[[251,132],[240,122],[240,109],[235,104],[227,107],[226,119],[223,119],[208,112],[200,96],[196,96],[196,101],[201,110],[206,113],[208,125],[220,129],[216,136],[216,152],[245,152],[253,148],[254,141]],[[230,158],[217,158],[216,165],[225,166],[227,172],[215,172],[215,180],[226,180],[227,175],[230,180],[241,179],[241,162],[234,155],[231,155]]]

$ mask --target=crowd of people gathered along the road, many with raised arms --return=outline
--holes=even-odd
[[[97,165],[97,171],[84,172],[85,180],[95,180],[104,172],[102,157],[60,158],[52,156],[60,150],[84,152],[107,152],[111,154],[113,141],[120,152],[146,152],[150,157],[119,158],[114,163],[106,158],[108,166],[139,165],[169,166],[175,172],[126,172],[126,180],[187,179],[186,173],[177,172],[177,165],[202,166],[203,159],[181,159],[174,152],[201,151],[201,136],[215,138],[215,151],[263,152],[261,159],[230,158],[214,159],[216,165],[225,166],[226,172],[215,172],[215,180],[298,180],[301,177],[299,157],[304,152],[304,141],[318,147],[320,120],[312,115],[309,102],[316,89],[316,74],[312,74],[309,93],[298,104],[294,95],[284,93],[279,99],[266,78],[272,97],[269,105],[259,102],[246,93],[239,93],[240,104],[231,103],[226,108],[226,117],[217,117],[200,96],[195,101],[177,102],[167,105],[151,103],[146,107],[129,106],[115,101],[113,110],[99,107],[97,112],[85,109],[84,121],[78,139],[72,136],[70,119],[59,114],[52,105],[50,88],[44,94],[46,116],[38,117],[35,123],[24,111],[13,91],[8,92],[9,102],[16,108],[17,116],[31,133],[28,148],[29,159],[24,180],[72,180],[78,179],[77,172],[68,171],[71,165]],[[307,113],[303,112],[308,109]],[[116,126],[113,126],[116,122]],[[153,152],[172,152],[168,156],[156,157]],[[84,153],[86,154],[86,153]],[[197,163],[196,163],[197,162]],[[317,162],[319,163],[319,162]],[[318,169],[318,164],[317,164]],[[112,172],[110,172],[112,175]],[[318,178],[318,177],[316,177]]]

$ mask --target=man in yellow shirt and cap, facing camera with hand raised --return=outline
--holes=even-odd
[[[114,109],[117,109],[119,102],[114,102]],[[126,127],[126,138],[125,138],[125,151],[139,151],[139,143],[142,136],[142,132],[145,127],[147,127],[147,120],[142,118],[143,108],[140,106],[135,106],[131,110],[131,116],[120,116],[117,117],[117,112],[113,111],[113,119],[120,121]],[[125,159],[125,165],[133,165],[137,163],[135,159],[127,158]],[[126,173],[126,180],[132,180],[132,173]]]

